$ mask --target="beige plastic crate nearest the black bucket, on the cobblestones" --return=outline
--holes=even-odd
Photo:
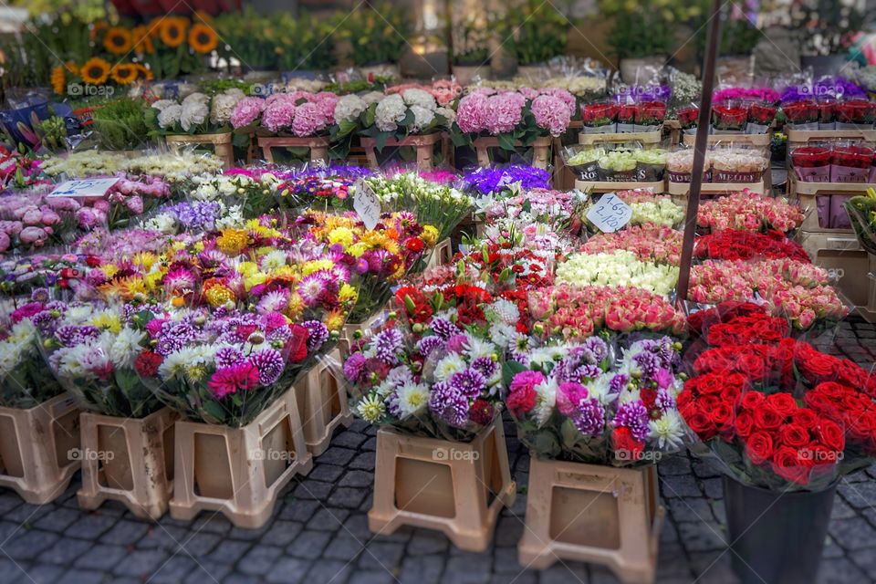
[[[534,456],[518,559],[536,569],[558,559],[598,563],[623,582],[650,583],[664,514],[656,465],[615,468]]]

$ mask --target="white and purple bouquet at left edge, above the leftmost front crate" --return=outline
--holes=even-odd
[[[33,408],[64,391],[39,350],[37,327],[54,327],[67,308],[48,297],[46,288],[37,288],[29,302],[0,307],[0,405],[6,408]]]

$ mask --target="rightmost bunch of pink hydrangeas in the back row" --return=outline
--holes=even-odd
[[[475,89],[459,101],[454,143],[495,136],[503,150],[514,151],[517,142],[526,147],[538,137],[563,134],[575,110],[575,98],[563,89]]]

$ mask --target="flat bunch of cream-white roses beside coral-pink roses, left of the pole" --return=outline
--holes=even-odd
[[[557,284],[637,287],[668,296],[678,283],[678,267],[642,261],[626,250],[572,254],[557,266]]]

